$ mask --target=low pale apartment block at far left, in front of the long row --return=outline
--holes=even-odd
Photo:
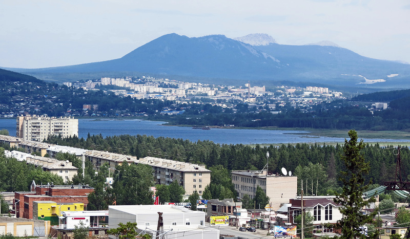
[[[26,161],[27,164],[33,164],[36,167],[42,167],[44,171],[49,171],[63,178],[64,182],[71,181],[74,175],[77,174],[77,168],[71,162],[60,161],[52,158],[33,156],[20,151],[5,150],[7,157],[15,158],[18,161]]]

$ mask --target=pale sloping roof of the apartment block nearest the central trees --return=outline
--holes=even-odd
[[[136,161],[136,163],[147,164],[152,167],[167,168],[182,172],[211,172],[198,164],[179,162],[169,159],[160,159],[154,157],[145,157]]]

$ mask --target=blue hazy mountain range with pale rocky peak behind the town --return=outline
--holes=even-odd
[[[409,88],[410,64],[360,56],[329,41],[304,46],[277,44],[267,34],[235,39],[224,35],[187,37],[163,35],[127,55],[108,61],[66,67],[8,70],[40,79],[71,80],[107,74],[155,74],[202,82],[230,79],[312,82],[325,85],[373,88]],[[97,76],[99,75],[99,76]],[[73,77],[75,76],[75,77]]]

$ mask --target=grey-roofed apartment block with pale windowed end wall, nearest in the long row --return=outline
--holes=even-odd
[[[155,184],[169,185],[177,181],[187,195],[191,195],[195,190],[202,195],[203,189],[211,182],[211,170],[204,165],[154,157],[145,157],[135,163],[152,166]]]

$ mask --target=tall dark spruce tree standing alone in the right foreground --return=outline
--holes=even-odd
[[[336,224],[336,228],[340,230],[340,238],[366,238],[361,233],[360,227],[366,223],[371,223],[377,211],[370,214],[362,212],[363,207],[369,206],[375,202],[374,198],[364,200],[363,192],[368,188],[368,183],[365,183],[364,176],[370,170],[370,164],[365,161],[360,154],[360,150],[364,148],[363,140],[357,142],[357,133],[354,130],[348,132],[350,140],[344,140],[344,148],[340,158],[344,162],[345,170],[341,171],[340,181],[343,182],[342,193],[336,193],[334,202],[340,204],[339,209],[343,214],[343,218]]]

